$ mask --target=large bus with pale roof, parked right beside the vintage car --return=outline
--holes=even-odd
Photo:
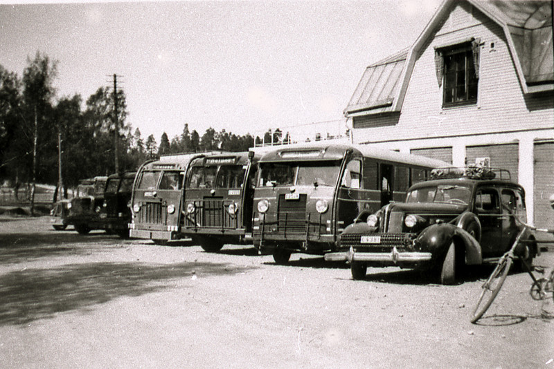
[[[321,144],[271,151],[258,162],[253,243],[276,263],[292,252],[333,252],[361,211],[403,201],[441,160],[364,145]]]

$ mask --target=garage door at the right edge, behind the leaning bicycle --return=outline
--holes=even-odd
[[[548,198],[554,193],[554,142],[535,142],[535,226],[554,228],[554,209]]]

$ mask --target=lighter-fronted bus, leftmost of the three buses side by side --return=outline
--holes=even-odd
[[[179,240],[183,224],[184,179],[191,160],[210,153],[161,155],[136,172],[131,196],[129,236],[164,245]]]

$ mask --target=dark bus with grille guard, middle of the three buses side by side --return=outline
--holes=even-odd
[[[190,163],[181,229],[207,252],[251,243],[254,184],[260,155],[206,155]]]

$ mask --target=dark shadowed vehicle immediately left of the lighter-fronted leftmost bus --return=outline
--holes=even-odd
[[[129,223],[131,223],[129,205],[135,176],[136,173],[133,171],[109,176],[104,193],[104,204],[100,211],[100,218],[104,220],[106,231],[118,234],[122,238],[129,237]]]

